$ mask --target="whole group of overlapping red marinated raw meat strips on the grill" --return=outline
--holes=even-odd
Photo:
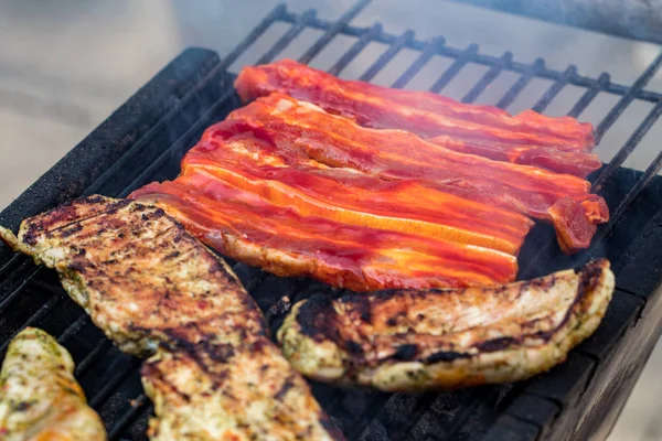
[[[291,61],[247,67],[235,86],[257,100],[210,127],[179,178],[131,197],[276,275],[353,290],[504,283],[528,217],[552,223],[566,252],[608,219],[581,178],[600,164],[589,125]]]

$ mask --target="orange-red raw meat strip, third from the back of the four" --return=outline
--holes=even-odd
[[[416,180],[384,181],[330,169],[288,149],[277,131],[243,121],[211,127],[182,161],[300,214],[348,225],[416,233],[516,254],[533,226],[526,216]]]

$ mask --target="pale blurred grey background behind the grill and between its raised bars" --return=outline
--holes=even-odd
[[[320,17],[334,19],[353,1],[287,3],[296,12],[316,8]],[[184,47],[205,46],[223,56],[275,4],[270,0],[0,0],[0,209]],[[575,64],[580,74],[592,77],[609,72],[612,80],[621,84],[631,84],[660,51],[650,43],[438,0],[374,1],[353,24],[376,21],[394,33],[415,29],[424,40],[444,35],[448,45],[460,49],[478,43],[483,53],[512,51],[522,62],[542,56],[549,67],[565,69]],[[282,30],[274,26],[231,71],[254,62]],[[305,31],[282,55],[300,55],[318,35]],[[328,68],[351,43],[337,37],[311,64]],[[341,76],[356,78],[383,50],[380,44],[371,44]],[[412,51],[401,52],[374,82],[391,84],[415,56]],[[408,87],[429,87],[448,64],[448,60],[433,58]],[[484,71],[467,66],[444,94],[461,97]],[[493,104],[516,78],[514,74],[500,75],[479,103]],[[509,110],[531,107],[541,90],[548,87],[545,82],[534,79]],[[662,75],[654,77],[648,88],[662,90]],[[546,114],[565,114],[579,94],[578,88],[565,87]],[[616,100],[599,95],[580,119],[598,122]],[[650,107],[640,103],[628,107],[597,149],[602,160],[611,159]],[[642,169],[651,161],[660,148],[661,126],[653,127],[626,166]],[[662,405],[662,381],[656,380],[661,368],[659,346],[611,441],[662,439],[662,419],[656,418],[658,406]]]

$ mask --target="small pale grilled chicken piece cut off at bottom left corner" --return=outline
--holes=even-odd
[[[10,343],[0,372],[0,439],[105,441],[87,406],[70,353],[45,332],[26,327]]]

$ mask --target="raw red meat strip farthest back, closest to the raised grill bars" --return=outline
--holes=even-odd
[[[595,146],[592,127],[570,117],[551,118],[532,110],[511,116],[437,94],[343,80],[291,60],[245,67],[235,87],[245,101],[279,92],[361,126],[408,130],[448,149],[499,161],[580,176],[601,165],[596,155],[586,153]]]

